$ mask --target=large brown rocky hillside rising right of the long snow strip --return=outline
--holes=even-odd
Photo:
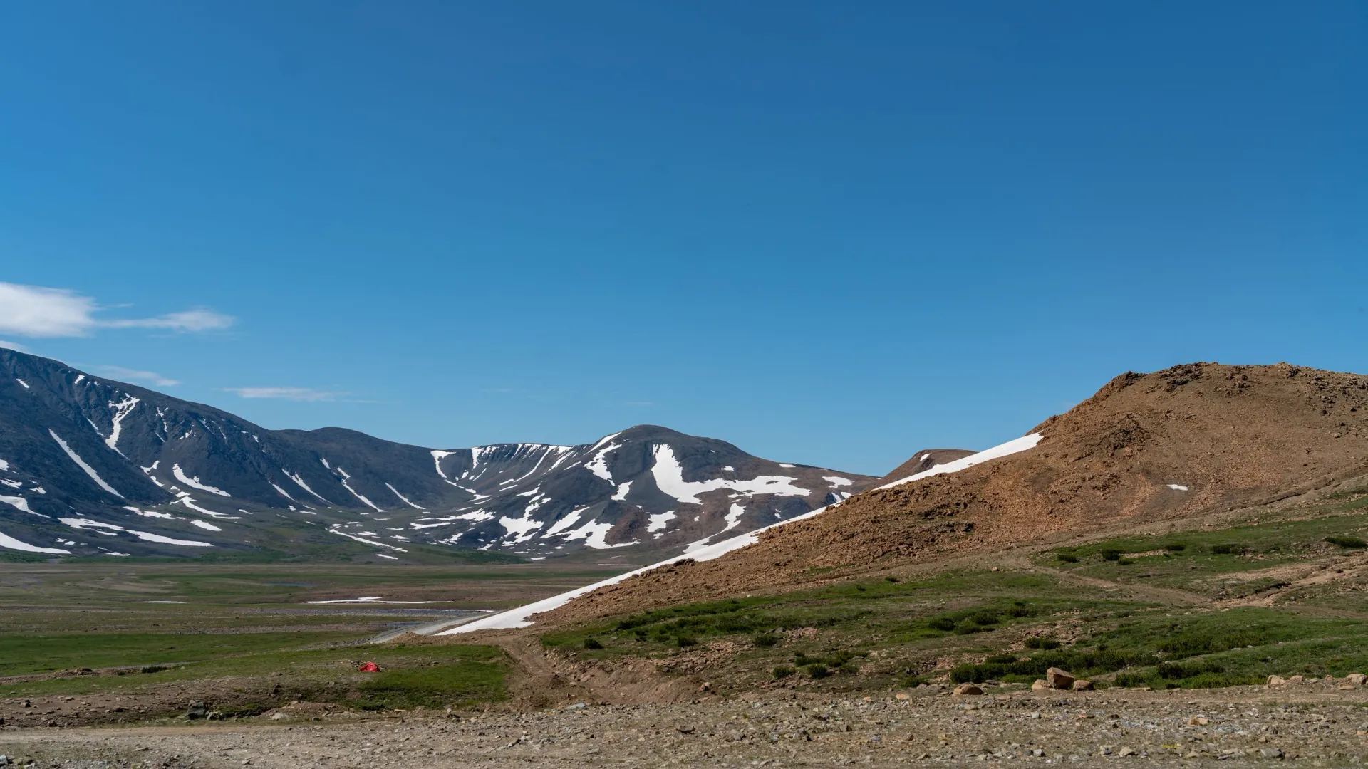
[[[750,547],[647,572],[544,618],[850,576],[1317,488],[1368,472],[1368,376],[1213,363],[1127,372],[1031,432],[1042,435],[1034,449],[866,491]]]

